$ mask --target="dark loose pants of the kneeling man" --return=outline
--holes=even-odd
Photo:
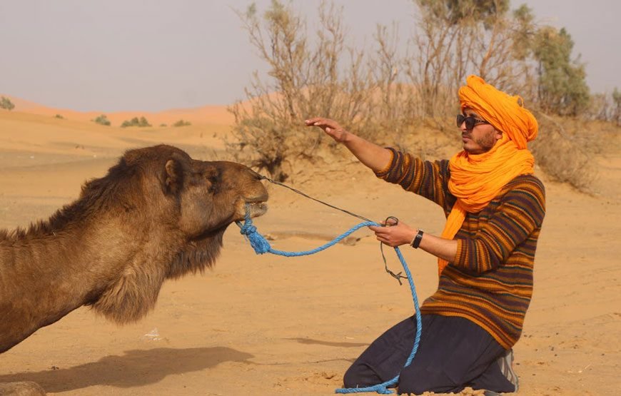
[[[488,332],[464,318],[422,315],[414,360],[403,368],[416,334],[416,318],[390,328],[345,372],[345,387],[376,385],[400,375],[399,393],[460,392],[464,387],[514,392],[496,362],[505,353]]]

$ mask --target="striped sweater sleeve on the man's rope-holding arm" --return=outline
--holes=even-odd
[[[485,273],[505,263],[510,253],[541,227],[545,215],[545,191],[537,178],[510,183],[498,208],[475,235],[457,238],[451,265],[468,273]]]

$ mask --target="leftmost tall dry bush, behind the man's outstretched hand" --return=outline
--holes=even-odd
[[[269,80],[258,73],[246,88],[245,103],[229,108],[235,117],[228,153],[265,169],[278,181],[288,176],[283,166],[295,158],[311,158],[324,136],[303,126],[310,116],[327,116],[363,134],[369,128],[373,79],[363,68],[363,56],[345,47],[340,10],[320,6],[320,28],[313,38],[306,22],[291,7],[273,0],[260,18],[256,6],[238,12],[251,44],[269,66]],[[350,56],[343,65],[343,54]]]

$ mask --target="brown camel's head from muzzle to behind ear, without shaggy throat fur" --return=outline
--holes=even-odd
[[[239,163],[198,161],[172,146],[127,151],[107,177],[116,175],[126,179],[118,183],[126,206],[159,216],[188,241],[223,231],[246,211],[257,217],[267,210],[268,193],[258,173]]]

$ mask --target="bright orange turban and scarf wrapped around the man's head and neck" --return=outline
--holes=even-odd
[[[450,159],[448,190],[457,198],[446,219],[442,238],[453,239],[466,213],[478,213],[513,178],[533,173],[535,158],[526,143],[537,136],[537,120],[522,107],[520,96],[509,96],[478,76],[469,76],[459,90],[462,110],[471,108],[503,137],[482,154],[460,151]],[[438,274],[448,265],[438,259]]]

